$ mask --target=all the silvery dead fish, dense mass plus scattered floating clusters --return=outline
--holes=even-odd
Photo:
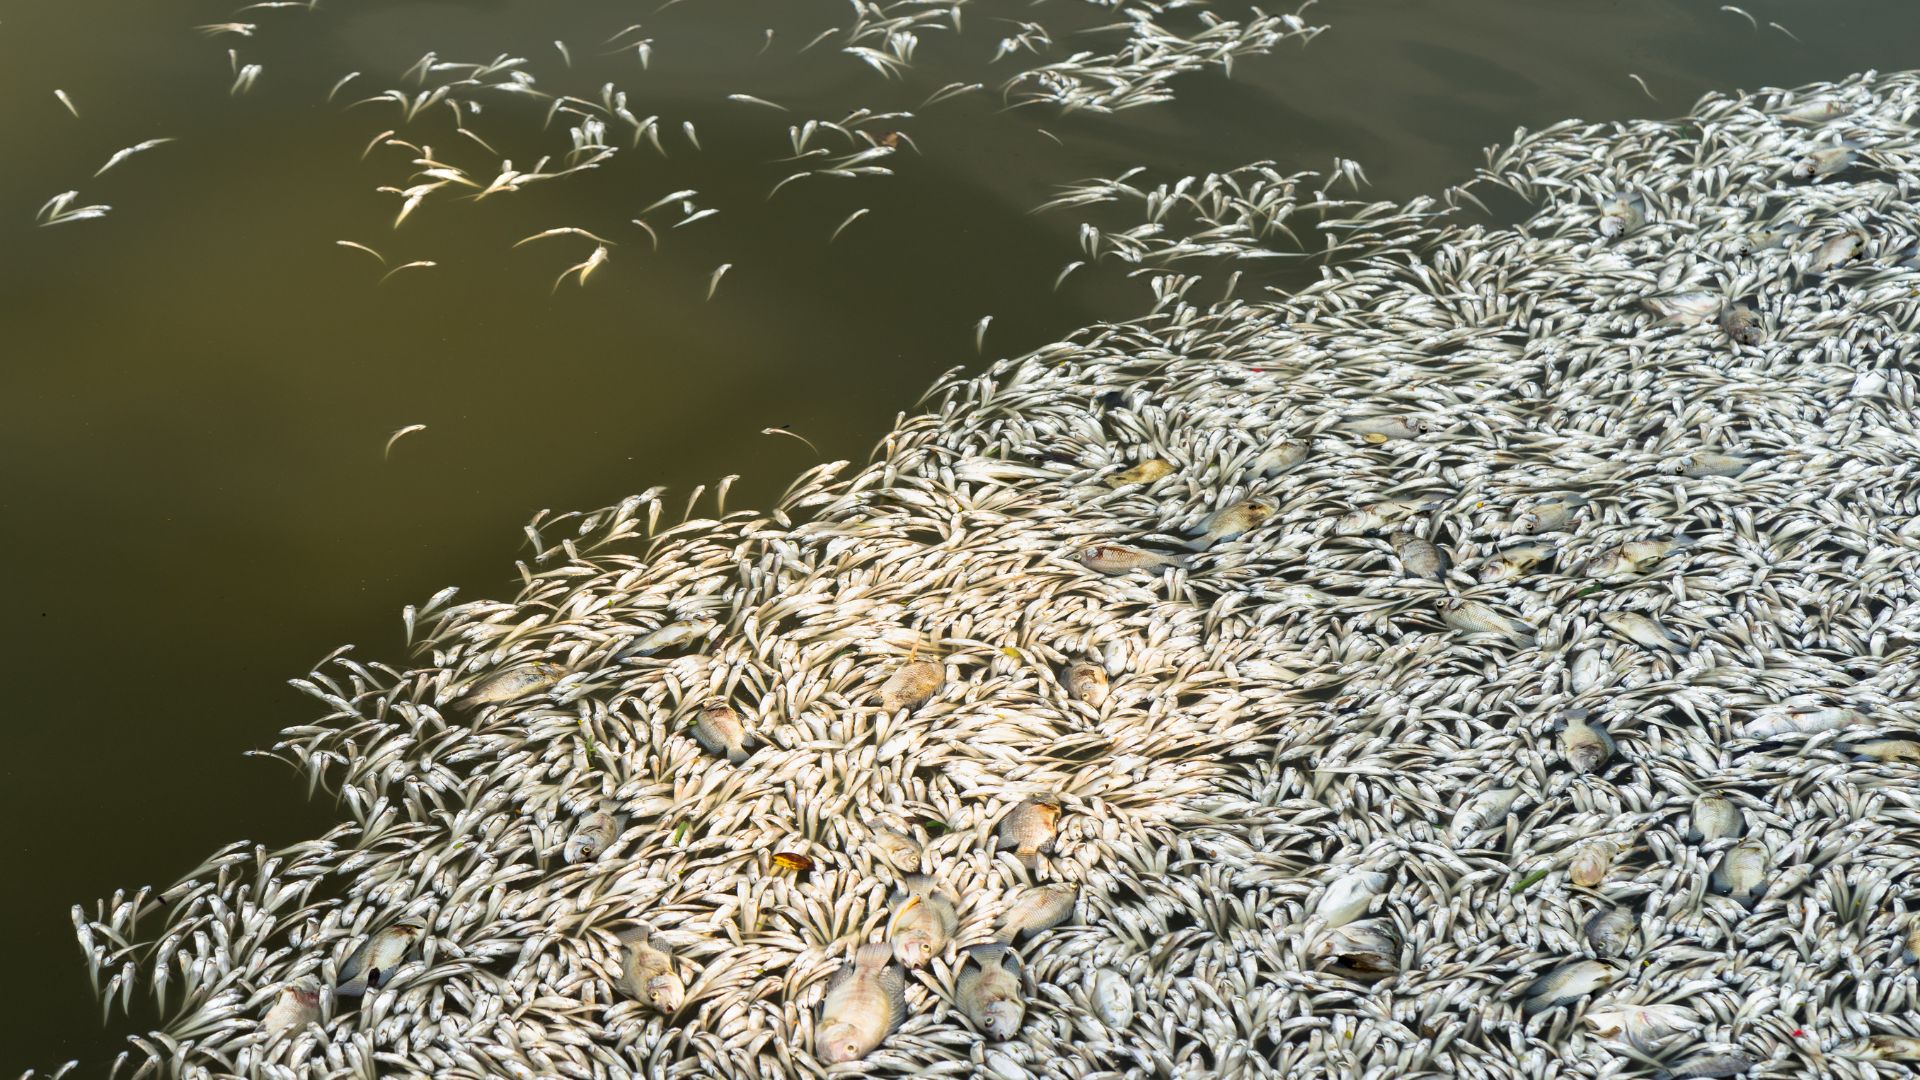
[[[1123,108],[1265,40],[1188,54],[1160,8],[1008,92]],[[958,12],[860,6],[847,52],[897,75]],[[509,60],[369,102],[465,127],[532,94]],[[589,169],[609,117],[659,146],[611,86],[541,100],[570,152],[420,146],[401,217]],[[516,598],[296,680],[330,713],[275,753],[346,821],[75,909],[104,1009],[161,1017],[115,1072],[1907,1068],[1914,111],[1912,75],[1709,96],[1411,204],[1331,198],[1348,161],[1068,188],[1140,208],[1081,242],[1152,313],[943,379],[772,511],[536,519]],[[1492,192],[1524,219],[1450,221]],[[1165,269],[1296,227],[1329,267],[1292,296]]]

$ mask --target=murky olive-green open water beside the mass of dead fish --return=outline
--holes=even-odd
[[[1713,88],[1899,67],[1920,40],[1920,6],[1905,0],[1745,4],[1799,42],[1713,0],[1327,0],[1308,12],[1331,25],[1311,46],[1244,58],[1233,79],[1188,75],[1173,104],[1006,113],[975,94],[900,121],[922,154],[889,160],[899,175],[808,179],[768,202],[787,123],[912,110],[962,71],[996,85],[1010,63],[979,67],[995,15],[1046,21],[1060,38],[1100,15],[1073,0],[975,2],[968,35],[927,35],[916,71],[887,83],[829,46],[795,56],[847,25],[839,0],[653,8],[0,12],[0,1072],[69,1057],[92,1072],[121,1045],[123,1030],[100,1028],[71,903],[165,886],[230,840],[284,844],[330,821],[303,801],[303,778],[242,751],[315,715],[284,680],[332,646],[399,659],[403,603],[445,584],[511,592],[520,525],[541,507],[730,473],[743,477],[732,503],[753,505],[820,457],[864,457],[937,373],[981,363],[981,315],[995,317],[991,357],[1137,313],[1146,286],[1125,267],[1050,290],[1077,258],[1079,217],[1029,209],[1056,184],[1342,156],[1365,165],[1375,196],[1402,198],[1465,179],[1515,125],[1672,115]],[[190,31],[228,17],[255,19],[259,37]],[[645,73],[632,56],[595,56],[634,21],[655,38]],[[756,58],[766,27],[774,46]],[[553,38],[574,46],[572,71]],[[250,96],[228,98],[228,44],[265,63]],[[399,117],[342,106],[399,85],[426,50],[526,56],[541,86],[586,98],[616,79],[636,113],[668,117],[672,158],[643,148],[513,196],[434,200],[396,233],[397,200],[372,188],[401,183],[407,156],[359,154]],[[321,104],[351,69],[367,75]],[[540,111],[509,102],[474,127],[526,167],[559,135],[540,140]],[[699,125],[703,152],[680,119]],[[445,156],[484,158],[436,123]],[[179,142],[88,179],[154,136]],[[649,252],[626,221],[687,186],[722,213]],[[67,188],[113,211],[36,229],[35,208]],[[828,246],[856,208],[870,213]],[[511,248],[557,225],[620,240],[588,288],[549,290],[589,242]],[[440,265],[376,286],[380,267],[340,238]],[[708,304],[720,263],[733,269]],[[411,423],[426,430],[384,461],[388,432]],[[772,425],[820,454],[760,434]]]

